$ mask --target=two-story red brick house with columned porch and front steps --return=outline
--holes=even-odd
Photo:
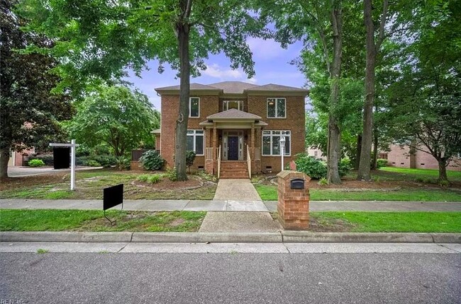
[[[284,162],[304,152],[303,88],[240,81],[191,83],[187,150],[196,152],[194,170],[221,178],[248,178],[281,170],[279,141],[285,138]],[[162,126],[152,133],[156,148],[174,165],[174,132],[179,86],[156,88],[162,97]]]

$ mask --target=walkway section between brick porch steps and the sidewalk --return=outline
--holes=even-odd
[[[250,180],[219,180],[213,199],[261,201]]]

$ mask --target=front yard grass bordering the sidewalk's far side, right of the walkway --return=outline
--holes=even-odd
[[[277,201],[277,187],[255,185],[263,201]],[[399,189],[395,191],[345,192],[311,189],[312,201],[461,201],[461,192],[448,189]]]

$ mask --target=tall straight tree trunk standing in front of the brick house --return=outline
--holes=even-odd
[[[189,119],[190,61],[189,61],[189,24],[177,24],[179,44],[179,117],[176,122],[176,146],[174,147],[174,165],[177,180],[187,180],[186,148],[187,122]]]

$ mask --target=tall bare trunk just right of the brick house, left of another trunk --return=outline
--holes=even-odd
[[[340,2],[335,2],[335,7],[331,12],[331,25],[333,28],[333,63],[330,71],[331,100],[328,114],[327,179],[329,183],[340,184],[338,163],[341,151],[341,132],[335,115],[340,98],[341,57],[343,55],[343,16]]]

